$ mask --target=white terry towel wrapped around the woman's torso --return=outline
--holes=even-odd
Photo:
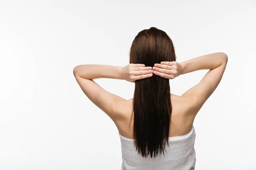
[[[120,133],[122,148],[122,170],[194,170],[195,169],[195,128],[183,136],[169,137],[165,156],[143,158],[134,147],[134,140]]]

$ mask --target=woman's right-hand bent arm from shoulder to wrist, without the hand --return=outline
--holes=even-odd
[[[214,53],[180,63],[183,67],[182,74],[196,70],[210,69],[198,84],[182,95],[187,99],[188,105],[190,105],[188,113],[192,118],[195,118],[209,96],[218,87],[226,69],[227,60],[225,53]]]

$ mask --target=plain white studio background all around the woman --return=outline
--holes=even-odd
[[[256,170],[256,1],[0,1],[0,170],[120,170],[118,131],[82,93],[80,64],[129,64],[137,33],[172,38],[177,62],[228,55],[198,113],[197,170]],[[207,70],[170,80],[183,94]],[[131,99],[134,84],[96,79]]]

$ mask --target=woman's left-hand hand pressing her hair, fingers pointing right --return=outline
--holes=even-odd
[[[153,76],[152,67],[145,67],[144,64],[128,64],[121,69],[122,79],[128,82],[135,82],[138,79],[145,79]]]

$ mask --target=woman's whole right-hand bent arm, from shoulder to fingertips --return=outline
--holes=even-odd
[[[227,55],[225,53],[213,53],[204,56],[189,59],[185,62],[167,62],[156,63],[153,67],[154,74],[166,78],[174,79],[181,74],[192,71],[209,69],[201,81],[186,91],[183,95],[189,105],[188,112],[194,118],[200,108],[207,101],[209,96],[217,88],[224,74],[227,65]]]

